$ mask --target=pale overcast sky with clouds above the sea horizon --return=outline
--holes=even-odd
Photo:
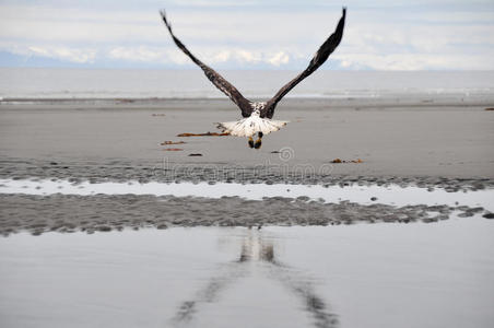
[[[412,4],[410,4],[412,3]],[[0,0],[1,67],[303,69],[348,8],[325,69],[494,70],[494,1]]]

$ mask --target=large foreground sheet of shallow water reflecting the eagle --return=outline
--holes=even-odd
[[[2,327],[492,327],[494,222],[0,238]]]

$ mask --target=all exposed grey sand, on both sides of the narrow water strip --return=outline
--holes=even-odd
[[[275,117],[291,124],[264,137],[259,151],[248,149],[242,138],[176,137],[215,131],[213,122],[237,119],[238,110],[228,101],[1,104],[0,178],[67,179],[75,185],[129,180],[393,184],[450,192],[494,187],[494,116],[484,110],[489,102],[440,106],[416,99],[395,105],[389,99],[353,99],[341,106],[334,102],[344,103],[284,101]],[[162,145],[164,141],[184,143]],[[165,151],[169,148],[180,150]],[[201,156],[189,156],[192,153]],[[331,163],[334,159],[349,163]],[[358,159],[362,163],[351,162]],[[440,203],[395,207],[283,197],[4,194],[0,198],[4,235],[176,225],[434,222],[454,212],[484,213],[482,208]]]

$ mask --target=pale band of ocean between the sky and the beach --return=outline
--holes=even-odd
[[[269,98],[298,71],[221,71],[245,96]],[[320,70],[287,97],[494,98],[494,71]],[[0,68],[0,97],[9,98],[223,98],[197,70]]]

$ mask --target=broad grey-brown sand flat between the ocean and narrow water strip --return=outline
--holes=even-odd
[[[217,131],[213,122],[237,119],[238,109],[227,99],[104,106],[1,104],[0,176],[160,179],[156,176],[170,169],[210,165],[209,171],[270,168],[259,173],[259,180],[266,181],[270,174],[308,165],[316,180],[322,178],[320,172],[336,179],[370,181],[379,177],[494,178],[494,115],[484,110],[489,102],[432,106],[415,101],[413,106],[385,106],[385,99],[370,107],[366,107],[369,99],[354,99],[344,107],[332,102],[284,101],[275,118],[291,122],[264,137],[259,151],[248,149],[243,138],[176,137]],[[186,143],[161,145],[164,141]],[[181,151],[164,151],[167,148]],[[273,153],[283,150],[284,157]],[[192,153],[202,156],[189,156]],[[334,159],[363,163],[331,165]]]

